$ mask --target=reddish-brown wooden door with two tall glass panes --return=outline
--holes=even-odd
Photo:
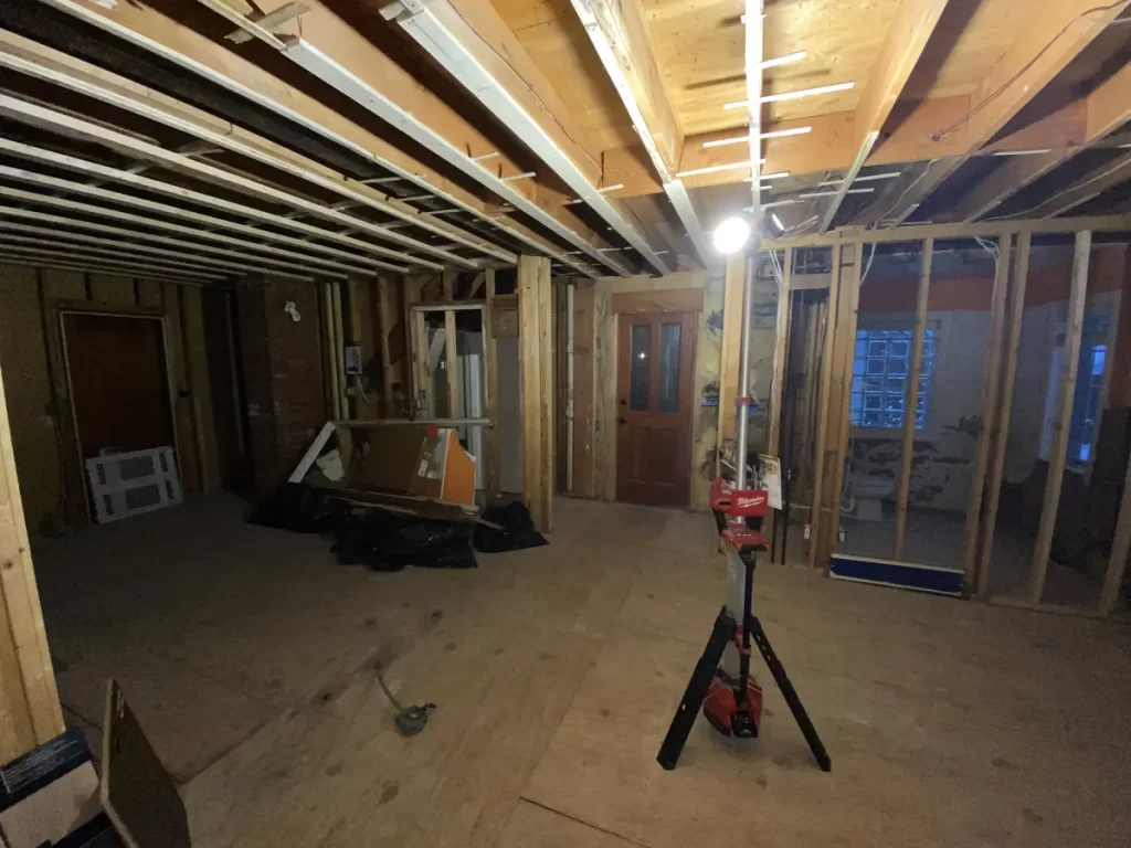
[[[687,507],[696,313],[620,315],[616,500]]]

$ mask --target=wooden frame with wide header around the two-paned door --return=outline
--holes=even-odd
[[[605,408],[604,419],[613,427],[612,438],[606,442],[607,455],[605,457],[605,462],[607,465],[607,500],[616,501],[616,459],[618,459],[618,438],[616,438],[616,419],[619,417],[619,410],[616,405],[616,389],[620,380],[620,334],[621,334],[621,315],[632,315],[632,314],[653,314],[653,313],[692,313],[696,325],[696,335],[691,345],[691,409],[690,409],[690,445],[688,447],[689,452],[689,464],[688,464],[688,503],[682,507],[682,509],[689,509],[693,503],[694,499],[694,474],[696,474],[696,409],[699,407],[699,397],[702,392],[701,374],[699,369],[699,335],[702,331],[702,312],[706,302],[706,288],[699,287],[680,287],[680,288],[664,288],[664,289],[648,289],[648,291],[636,291],[636,292],[618,292],[612,291],[608,297],[608,332],[604,335],[602,340],[602,347],[605,349],[606,355],[611,353],[607,358],[612,360],[610,363],[611,367],[606,367],[605,371],[611,378],[606,381],[603,387]],[[599,375],[601,369],[598,369]],[[673,509],[681,509],[674,507]]]

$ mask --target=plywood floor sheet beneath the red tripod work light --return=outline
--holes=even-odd
[[[1131,742],[1112,728],[1131,716],[1124,628],[763,568],[756,603],[834,771],[817,769],[756,660],[762,737],[728,742],[700,720],[664,772],[655,755],[722,580],[698,589],[674,562],[651,577],[554,734],[532,802],[648,848],[1123,843]]]

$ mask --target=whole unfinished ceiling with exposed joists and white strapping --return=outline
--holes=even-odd
[[[7,0],[0,251],[665,274],[756,171],[791,233],[1122,214],[1129,3],[768,0],[748,68],[753,0]]]

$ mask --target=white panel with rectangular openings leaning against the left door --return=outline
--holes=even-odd
[[[149,448],[86,460],[100,525],[180,503],[181,481],[172,448]]]

